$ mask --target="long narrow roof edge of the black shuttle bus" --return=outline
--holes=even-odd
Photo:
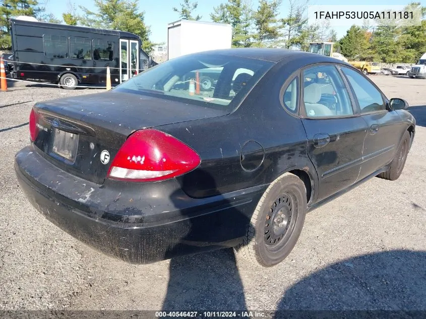
[[[105,34],[105,35],[116,35],[118,37],[130,38],[130,39],[140,39],[140,37],[136,34],[119,31],[119,30],[108,30],[108,29],[98,29],[91,27],[82,27],[82,26],[70,26],[67,24],[58,24],[58,23],[48,23],[48,22],[39,22],[39,21],[26,21],[19,19],[10,19],[12,23],[16,25],[28,26],[28,27],[43,27],[50,29],[58,29],[58,30],[69,30],[69,31],[80,31],[80,32],[90,32],[97,34]]]

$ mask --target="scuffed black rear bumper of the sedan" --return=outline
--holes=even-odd
[[[45,218],[95,249],[135,264],[238,244],[267,187],[193,199],[174,179],[141,184],[107,179],[99,185],[58,169],[33,146],[16,155],[15,171]]]

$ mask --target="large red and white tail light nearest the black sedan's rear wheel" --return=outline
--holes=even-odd
[[[163,132],[146,129],[132,134],[118,150],[108,177],[124,181],[158,181],[196,168],[200,156]]]

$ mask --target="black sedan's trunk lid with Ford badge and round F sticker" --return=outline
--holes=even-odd
[[[225,115],[221,110],[114,92],[39,102],[34,142],[55,166],[101,184],[127,137],[140,129]]]

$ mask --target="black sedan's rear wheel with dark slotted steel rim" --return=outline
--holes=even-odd
[[[294,174],[281,175],[260,199],[243,242],[235,247],[237,256],[263,267],[282,262],[299,238],[306,209],[305,184]]]

